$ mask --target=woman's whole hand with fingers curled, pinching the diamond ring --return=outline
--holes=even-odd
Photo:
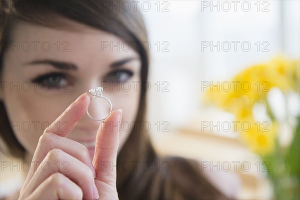
[[[105,119],[108,125],[101,123],[99,126],[92,161],[84,145],[66,138],[85,114],[89,102],[88,95],[81,94],[45,129],[39,138],[19,199],[118,198],[116,170],[101,168],[101,164],[103,161],[116,163],[119,128],[110,127],[110,124],[121,120],[121,110],[113,110]],[[68,121],[67,131],[62,129],[65,121]],[[57,126],[57,123],[60,125]],[[40,163],[48,165],[42,167]],[[62,163],[68,164],[67,169]]]

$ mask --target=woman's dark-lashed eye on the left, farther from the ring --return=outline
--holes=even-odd
[[[43,86],[48,86],[50,89],[55,89],[67,84],[66,75],[59,72],[39,75],[31,81]]]

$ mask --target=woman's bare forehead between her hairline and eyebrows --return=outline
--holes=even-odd
[[[138,56],[127,41],[111,33],[70,23],[72,29],[19,22],[13,29],[9,50],[24,62],[35,58],[55,58],[77,62],[78,65],[93,62],[108,65],[113,60]]]

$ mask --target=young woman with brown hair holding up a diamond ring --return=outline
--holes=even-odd
[[[31,162],[14,197],[232,198],[198,162],[155,153],[140,125],[146,29],[133,1],[129,10],[118,3],[1,1],[0,135],[10,154]],[[120,89],[125,81],[130,89]],[[113,108],[103,122],[85,114],[107,114],[109,104],[86,93],[101,85]],[[120,127],[124,121],[130,126]]]

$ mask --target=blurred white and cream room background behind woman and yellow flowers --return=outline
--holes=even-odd
[[[234,115],[207,106],[204,85],[230,80],[243,69],[278,55],[299,59],[299,9],[298,0],[161,0],[143,4],[151,44],[149,81],[154,87],[148,92],[147,119],[160,124],[159,131],[151,135],[162,154],[218,166],[228,161],[229,171],[241,181],[240,199],[273,198],[267,171],[257,167],[264,161],[262,157],[240,142],[232,128],[211,128],[218,121],[232,121]],[[280,98],[273,101],[278,104]],[[297,115],[298,94],[290,102]],[[284,115],[280,106],[274,112]],[[210,126],[203,128],[203,121]],[[239,163],[237,169],[234,161]],[[250,163],[249,170],[240,167],[243,161]]]

